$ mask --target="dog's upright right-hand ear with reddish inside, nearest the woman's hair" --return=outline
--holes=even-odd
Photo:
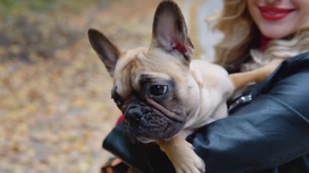
[[[163,1],[159,4],[152,24],[151,47],[168,52],[178,51],[190,61],[194,46],[181,10],[175,2]]]

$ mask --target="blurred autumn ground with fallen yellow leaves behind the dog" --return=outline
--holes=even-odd
[[[0,0],[0,172],[99,172],[120,112],[88,28],[120,48],[148,46],[159,0]],[[195,57],[220,38],[205,23],[221,1],[176,1]]]

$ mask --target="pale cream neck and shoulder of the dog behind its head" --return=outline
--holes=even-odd
[[[225,101],[234,91],[226,70],[206,61],[194,60],[191,62],[191,76],[199,88],[199,105],[187,116],[183,129],[195,129],[226,117]]]

